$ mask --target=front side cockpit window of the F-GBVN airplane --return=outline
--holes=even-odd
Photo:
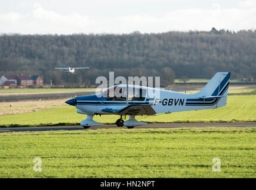
[[[126,101],[127,100],[127,87],[114,86],[107,88],[103,92],[103,97],[108,101]]]

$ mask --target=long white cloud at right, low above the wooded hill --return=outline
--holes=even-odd
[[[243,1],[248,5],[251,1]],[[119,17],[124,30],[141,32],[211,30],[212,27],[227,30],[256,29],[256,8],[226,8],[220,4],[212,5],[212,9],[180,9],[158,17],[150,15],[129,15]]]

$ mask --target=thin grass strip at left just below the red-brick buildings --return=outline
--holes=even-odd
[[[13,88],[0,89],[0,93],[56,93],[63,91],[94,91],[95,88]]]

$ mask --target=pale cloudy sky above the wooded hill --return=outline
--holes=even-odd
[[[0,0],[0,34],[256,30],[255,0]]]

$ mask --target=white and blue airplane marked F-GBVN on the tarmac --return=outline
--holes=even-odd
[[[226,106],[229,80],[230,72],[217,72],[209,83],[196,94],[119,84],[107,88],[99,94],[76,97],[67,100],[66,103],[75,106],[78,109],[77,113],[87,115],[87,119],[80,123],[84,128],[103,125],[93,121],[94,115],[120,115],[121,118],[116,121],[116,125],[133,128],[147,124],[135,120],[136,115],[156,115]],[[152,92],[158,96],[152,97]],[[124,121],[122,116],[127,115],[129,119]]]

